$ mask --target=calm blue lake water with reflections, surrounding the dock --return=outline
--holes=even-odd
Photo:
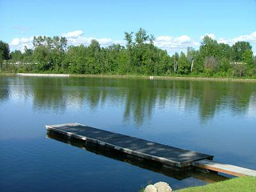
[[[1,191],[138,191],[179,181],[46,138],[46,124],[80,122],[256,169],[256,83],[0,77]]]

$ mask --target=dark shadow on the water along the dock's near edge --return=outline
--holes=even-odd
[[[50,130],[47,131],[46,137],[57,140],[59,142],[70,144],[71,146],[77,146],[83,150],[90,151],[94,154],[99,154],[107,158],[112,158],[121,162],[126,162],[129,163],[130,165],[138,166],[146,170],[152,170],[159,174],[164,174],[170,178],[175,178],[178,180],[193,177],[207,183],[212,183],[228,179],[225,176],[219,175],[218,173],[215,172],[202,173],[196,169],[173,170],[170,167],[163,166],[162,163],[160,162],[154,162],[145,158],[138,158],[135,157],[134,155],[125,154],[122,153],[121,151],[100,146],[92,142],[84,142],[78,138],[66,137],[63,134],[58,134],[57,132]]]

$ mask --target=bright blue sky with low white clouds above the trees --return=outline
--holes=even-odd
[[[74,45],[97,38],[108,46],[142,27],[170,53],[198,47],[205,34],[230,44],[249,41],[256,52],[256,0],[0,0],[0,26],[11,50],[31,46],[35,35],[66,36]]]

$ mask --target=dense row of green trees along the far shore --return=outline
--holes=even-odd
[[[67,46],[64,37],[34,37],[33,49],[10,52],[0,41],[0,71],[70,74],[191,75],[202,77],[256,78],[256,57],[249,42],[233,46],[205,36],[198,50],[167,54],[154,46],[154,36],[146,30],[125,32],[126,46],[101,47],[97,40],[89,46]]]

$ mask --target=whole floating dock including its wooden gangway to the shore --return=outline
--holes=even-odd
[[[129,154],[133,158],[161,163],[162,166],[174,170],[189,170],[198,167],[199,169],[213,170],[235,176],[256,176],[256,170],[214,162],[212,161],[214,156],[210,154],[166,146],[141,138],[99,130],[79,123],[50,125],[46,126],[46,129],[67,138],[78,139],[86,144],[94,144],[104,149]]]

